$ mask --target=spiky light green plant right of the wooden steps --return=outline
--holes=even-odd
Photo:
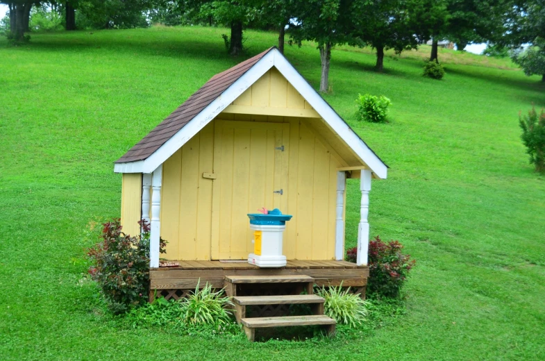
[[[321,287],[316,294],[324,297],[324,312],[335,321],[355,327],[362,324],[367,316],[367,302],[360,294],[350,293],[350,287],[343,291],[339,287]]]

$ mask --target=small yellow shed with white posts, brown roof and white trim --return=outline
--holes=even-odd
[[[262,207],[293,215],[288,260],[344,262],[346,178],[360,178],[364,267],[371,178],[386,178],[387,166],[272,47],[210,78],[119,158],[115,172],[123,174],[124,231],[137,234],[137,221],[151,220],[152,269],[159,237],[169,242],[162,257],[182,266],[246,260],[246,214]]]

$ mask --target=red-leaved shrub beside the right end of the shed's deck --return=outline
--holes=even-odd
[[[376,296],[396,298],[399,296],[409,271],[415,260],[410,255],[401,253],[403,245],[399,241],[388,243],[376,236],[369,241],[369,278],[367,293]],[[356,248],[346,252],[346,260],[355,262]]]

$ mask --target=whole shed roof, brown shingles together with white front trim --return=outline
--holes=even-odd
[[[386,177],[387,166],[382,160],[305,81],[276,47],[270,47],[212,76],[171,115],[153,128],[124,156],[116,160],[115,171],[151,173],[272,67],[278,69],[280,74],[294,86],[312,108],[315,108],[320,117],[346,144],[353,148],[358,157],[369,165],[379,178]]]

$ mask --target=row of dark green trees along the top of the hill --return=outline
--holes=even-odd
[[[430,60],[437,60],[438,40],[519,48],[512,59],[526,74],[545,74],[545,4],[541,0],[0,0],[9,6],[9,36],[24,40],[29,17],[51,18],[58,27],[134,28],[160,22],[167,25],[228,26],[228,53],[243,51],[246,27],[278,31],[278,48],[291,41],[317,44],[321,59],[320,90],[329,89],[331,49],[339,44],[372,47],[376,69],[383,70],[387,49],[415,49],[433,39]],[[40,4],[40,10],[31,12]],[[44,5],[45,4],[45,5]],[[49,5],[47,5],[49,4]],[[56,16],[47,16],[47,9]],[[55,28],[56,28],[55,27]],[[47,28],[38,26],[35,28]],[[53,28],[53,27],[51,27]],[[291,42],[290,42],[291,44]],[[545,80],[545,78],[544,78]]]

